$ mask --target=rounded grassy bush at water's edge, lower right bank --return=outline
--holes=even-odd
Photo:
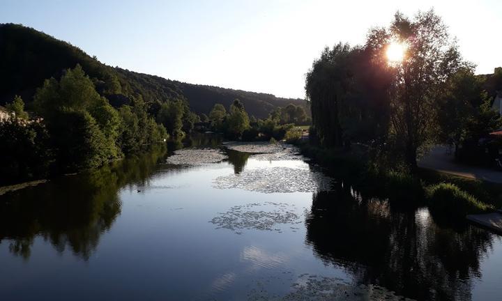
[[[490,209],[490,206],[478,201],[476,197],[452,183],[429,185],[425,192],[429,207],[441,213],[465,215]]]

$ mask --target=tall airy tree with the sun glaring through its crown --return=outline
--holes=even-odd
[[[402,147],[406,164],[416,169],[418,151],[436,137],[443,86],[465,63],[434,10],[419,12],[413,19],[396,13],[387,29],[370,32],[368,43],[384,45],[387,54],[402,49],[402,55],[393,54],[398,60],[389,62],[395,70],[390,89],[391,134]]]

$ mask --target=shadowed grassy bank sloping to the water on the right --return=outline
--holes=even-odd
[[[502,206],[502,185],[452,176],[429,169],[405,173],[377,169],[357,146],[351,150],[328,149],[307,142],[296,144],[326,171],[354,187],[367,198],[388,199],[401,206],[428,206],[432,210],[463,216],[489,212]]]

